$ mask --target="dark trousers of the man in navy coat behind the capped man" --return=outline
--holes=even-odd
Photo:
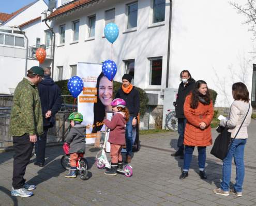
[[[44,161],[45,161],[48,129],[49,129],[48,126],[43,127],[43,134],[37,135],[36,161],[40,164],[44,164]]]

